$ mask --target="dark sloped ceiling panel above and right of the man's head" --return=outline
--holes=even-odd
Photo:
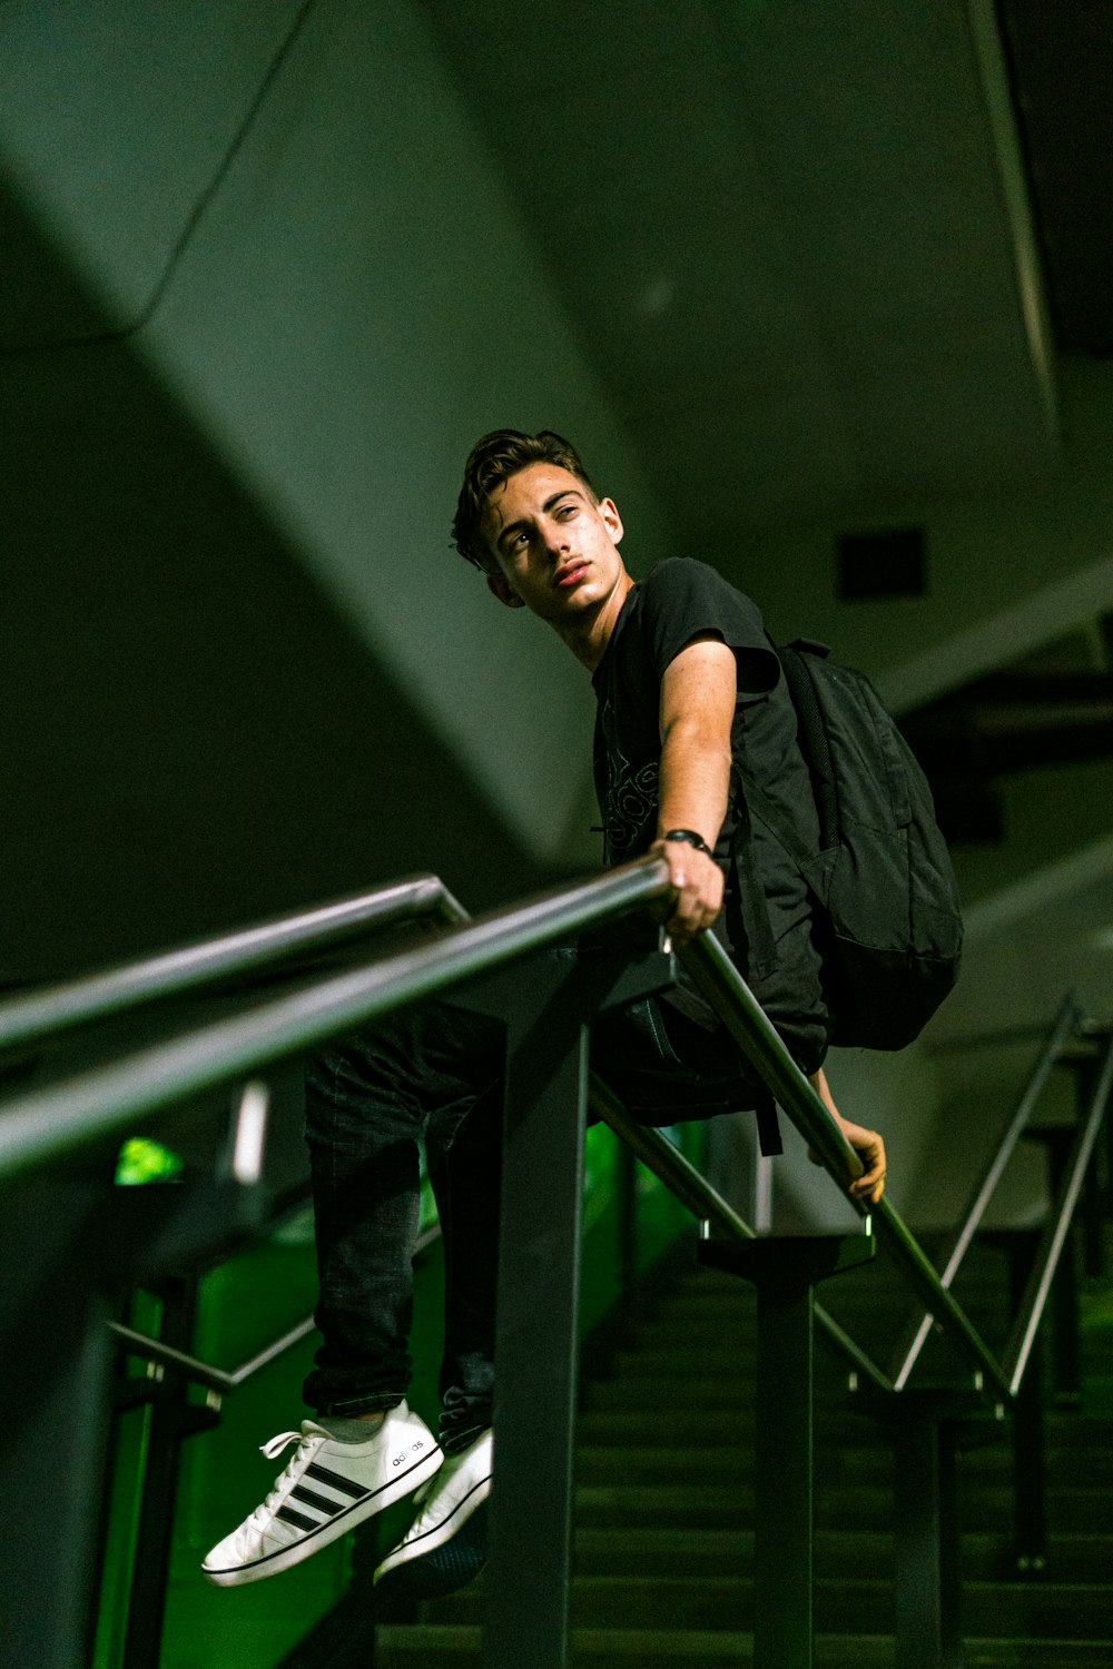
[[[1048,467],[985,7],[427,10],[686,549]]]

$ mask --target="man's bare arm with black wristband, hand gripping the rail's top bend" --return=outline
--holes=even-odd
[[[689,643],[661,681],[657,840],[651,851],[667,861],[677,890],[667,923],[677,945],[709,928],[719,915],[723,871],[698,846],[661,836],[691,829],[714,850],[731,791],[734,699],[734,653],[718,638]]]

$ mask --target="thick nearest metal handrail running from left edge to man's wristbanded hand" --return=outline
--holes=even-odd
[[[436,996],[514,956],[657,905],[671,893],[664,858],[639,858],[512,910],[447,928],[369,968],[317,980],[232,1020],[23,1095],[0,1112],[0,1180],[113,1135],[135,1117]]]

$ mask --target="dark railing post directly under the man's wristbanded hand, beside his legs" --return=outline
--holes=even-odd
[[[507,1021],[484,1669],[566,1669],[587,1023],[672,983],[669,956],[549,953],[461,1000]]]

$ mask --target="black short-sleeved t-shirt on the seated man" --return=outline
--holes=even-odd
[[[656,836],[657,778],[661,768],[661,681],[666,668],[694,638],[716,636],[734,651],[738,701],[731,729],[736,766],[746,768],[778,806],[799,840],[818,850],[819,824],[811,781],[796,746],[796,713],[781,664],[766,636],[758,606],[728,584],[706,562],[672,557],[634,586],[616,623],[592,683],[597,701],[594,773],[604,824],[604,863],[641,856]],[[753,871],[761,876],[773,943],[784,943],[781,970],[754,965],[758,945],[748,921],[744,870],[746,841]],[[754,995],[771,1013],[796,1013],[819,1001],[818,956],[809,946],[811,905],[799,871],[776,836],[758,816],[749,816],[741,778],[733,773],[731,808],[714,850],[726,875],[726,900],[716,936],[749,978]],[[753,895],[751,895],[753,896]],[[751,911],[753,913],[753,911]],[[798,963],[809,963],[801,995]],[[813,966],[814,965],[814,966]],[[704,1023],[706,1005],[682,990],[676,1006]]]

